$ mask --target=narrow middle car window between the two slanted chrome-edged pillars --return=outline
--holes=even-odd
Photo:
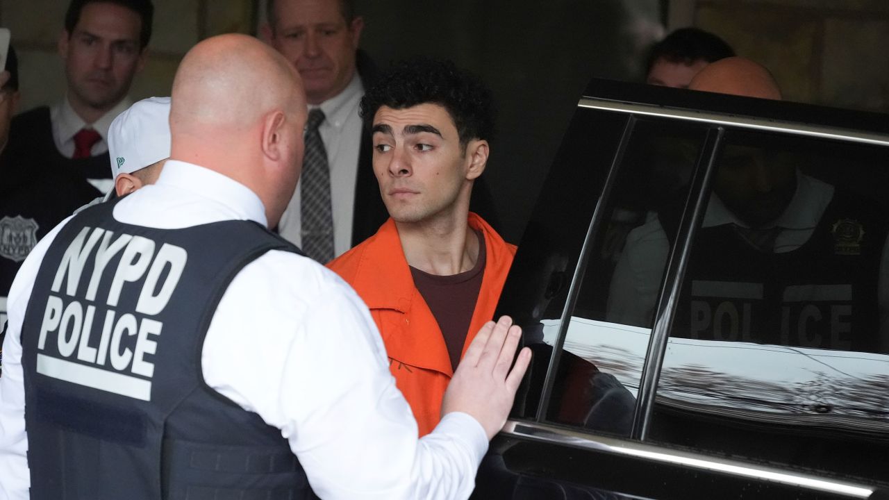
[[[663,268],[641,270],[652,283],[637,289],[628,254],[651,236],[653,217],[665,206],[681,205],[701,157],[707,135],[702,125],[677,125],[657,118],[636,119],[615,165],[611,196],[600,207],[600,223],[588,242],[585,269],[565,332],[546,418],[591,431],[629,436],[652,311],[642,301],[625,302],[642,292],[653,303]],[[664,261],[669,238],[657,250]],[[649,259],[653,262],[653,259]],[[560,321],[544,321],[544,342],[559,347]]]

